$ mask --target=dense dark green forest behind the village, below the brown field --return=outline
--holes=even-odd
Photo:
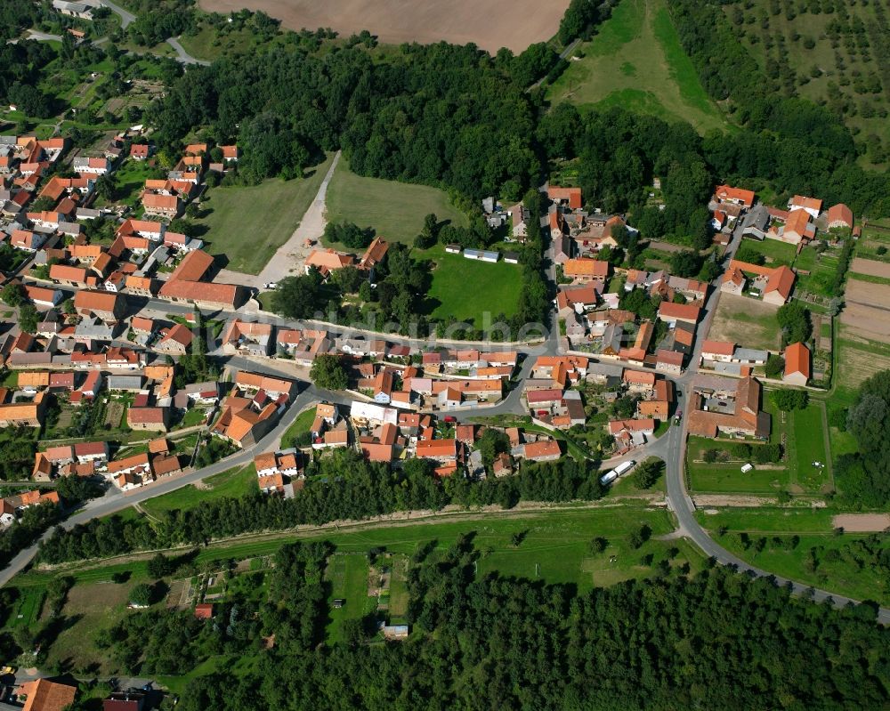
[[[522,55],[491,57],[472,45],[440,43],[404,44],[384,58],[361,45],[320,56],[298,37],[286,47],[190,69],[150,117],[157,140],[170,147],[194,130],[238,140],[247,181],[294,174],[320,151],[343,148],[359,174],[515,199],[546,174],[547,158],[578,156],[585,187],[593,189],[590,204],[611,198],[606,206],[620,208],[639,203],[652,171],[664,176],[691,159],[673,181],[675,201],[667,200],[674,214],[664,224],[647,218],[643,237],[703,232],[702,196],[716,180],[770,182],[782,195],[817,194],[857,214],[890,213],[886,176],[855,165],[853,137],[840,117],[810,101],[774,97],[756,62],[720,34],[719,22],[726,41],[708,43],[715,26],[697,13],[717,11],[682,1],[688,6],[677,0],[674,15],[684,45],[716,98],[737,97],[732,109],[742,131],[701,139],[687,125],[619,109],[584,118],[566,107],[547,110],[542,93],[525,91],[527,77],[514,77],[525,73],[516,69],[528,64]],[[635,137],[639,131],[643,138]]]

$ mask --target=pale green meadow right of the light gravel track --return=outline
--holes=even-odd
[[[448,195],[426,185],[364,178],[352,173],[341,158],[328,185],[328,222],[354,222],[372,227],[389,242],[411,245],[423,230],[424,218],[434,213],[440,222],[465,226],[466,215],[451,205]],[[329,246],[346,249],[332,243]]]

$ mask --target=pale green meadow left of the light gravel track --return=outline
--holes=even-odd
[[[196,221],[206,229],[201,235],[206,251],[228,257],[228,269],[259,274],[303,219],[332,159],[329,156],[300,180],[207,190],[201,209],[210,212]]]

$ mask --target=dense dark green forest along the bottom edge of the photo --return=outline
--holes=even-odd
[[[190,682],[184,711],[803,711],[890,699],[890,632],[875,623],[873,606],[817,605],[724,568],[689,578],[658,566],[654,578],[585,595],[477,578],[470,536],[412,556],[409,641],[381,643],[371,614],[350,620],[343,641],[328,646],[331,553],[326,543],[285,545],[264,574],[267,595],[235,594],[206,621],[188,611],[136,612],[95,642],[134,675],[188,673],[215,654],[251,658],[240,671]]]

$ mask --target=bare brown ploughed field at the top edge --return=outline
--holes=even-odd
[[[367,29],[381,42],[478,44],[490,53],[521,53],[556,34],[569,0],[200,0],[208,12],[263,10],[286,28]]]

